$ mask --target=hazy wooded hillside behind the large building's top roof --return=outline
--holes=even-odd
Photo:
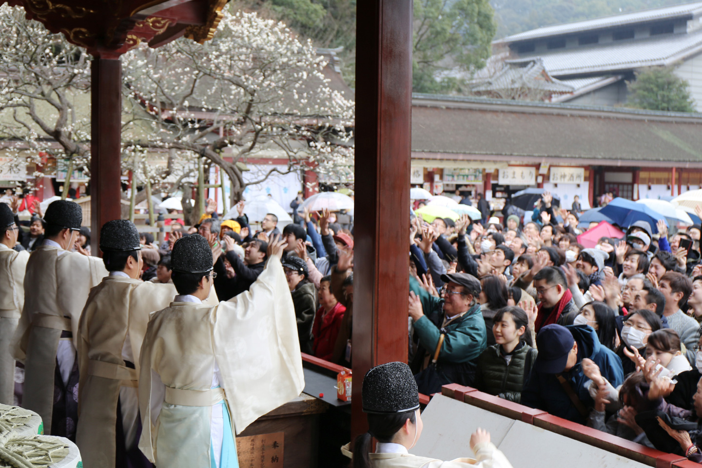
[[[491,0],[497,37],[537,27],[684,3],[682,0]]]

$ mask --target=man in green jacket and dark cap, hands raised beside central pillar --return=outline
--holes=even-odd
[[[442,385],[472,385],[475,362],[487,345],[485,321],[477,304],[480,281],[467,273],[443,274],[444,299],[427,293],[410,278],[409,316],[418,347],[411,368],[419,392],[441,392]],[[444,335],[439,357],[431,364]],[[428,366],[426,365],[427,363]]]

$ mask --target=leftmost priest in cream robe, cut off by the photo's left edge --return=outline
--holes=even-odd
[[[20,227],[7,203],[0,203],[0,403],[14,405],[15,358],[10,347],[25,303],[27,250],[13,250]]]

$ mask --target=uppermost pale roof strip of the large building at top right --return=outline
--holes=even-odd
[[[592,31],[594,29],[602,29],[605,27],[633,25],[639,22],[651,20],[661,20],[670,18],[686,18],[702,11],[702,2],[697,1],[691,4],[667,6],[664,8],[653,8],[651,10],[637,11],[635,13],[624,13],[622,15],[607,16],[604,18],[596,18],[594,20],[584,20],[569,22],[564,25],[553,25],[531,29],[531,31],[520,32],[513,34],[503,39],[494,41],[495,43],[510,43],[516,41],[524,41],[527,39],[536,39],[539,37],[556,36],[559,34],[571,34],[575,32]]]

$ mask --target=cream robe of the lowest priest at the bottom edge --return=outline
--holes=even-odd
[[[512,468],[505,454],[491,442],[479,443],[474,458],[442,461],[408,453],[369,453],[373,468]]]

